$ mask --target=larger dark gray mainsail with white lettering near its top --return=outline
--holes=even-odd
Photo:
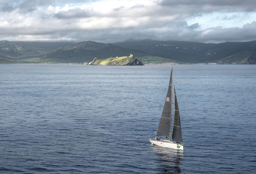
[[[171,124],[172,124],[172,70],[171,70],[170,83],[169,83],[167,95],[164,102],[164,108],[162,111],[160,122],[158,124],[156,135],[165,136],[165,137],[170,136],[171,138],[171,135],[170,135]]]

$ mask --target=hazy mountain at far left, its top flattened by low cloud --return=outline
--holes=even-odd
[[[24,59],[45,54],[56,48],[73,44],[74,42],[20,42],[0,41],[0,56],[14,59]]]

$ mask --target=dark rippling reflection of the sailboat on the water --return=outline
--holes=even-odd
[[[160,170],[160,173],[181,173],[183,163],[180,161],[183,158],[183,151],[158,146],[152,146],[152,148],[159,159],[158,170]]]

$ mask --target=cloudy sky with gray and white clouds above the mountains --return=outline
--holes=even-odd
[[[256,40],[256,0],[0,0],[0,40]]]

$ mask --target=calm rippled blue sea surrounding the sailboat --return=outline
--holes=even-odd
[[[256,66],[173,69],[184,152],[148,141],[171,65],[0,65],[0,172],[254,173]]]

